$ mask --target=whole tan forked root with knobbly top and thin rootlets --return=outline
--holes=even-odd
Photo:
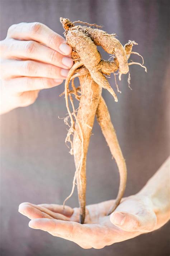
[[[75,26],[74,24],[76,22],[71,22],[66,18],[60,18],[60,21],[65,29],[67,43],[73,49],[72,58],[75,63],[66,78],[65,91],[63,94],[65,94],[66,107],[69,114],[69,116],[65,118],[65,123],[69,125],[66,143],[70,142],[71,144],[70,153],[74,155],[76,171],[71,193],[65,199],[63,205],[65,205],[66,200],[70,198],[74,192],[75,184],[77,184],[80,205],[80,223],[83,224],[85,221],[86,206],[86,156],[95,115],[110,148],[110,152],[115,158],[120,175],[118,196],[108,214],[111,214],[119,205],[126,188],[126,163],[110,120],[107,105],[101,96],[102,88],[107,89],[113,95],[115,102],[117,102],[118,99],[105,75],[110,75],[119,69],[119,80],[121,80],[121,75],[128,73],[129,65],[132,64],[138,64],[145,68],[146,72],[147,70],[146,67],[143,66],[143,62],[142,64],[137,62],[128,63],[131,54],[137,54],[143,61],[143,57],[140,54],[132,52],[132,46],[137,45],[136,42],[129,41],[123,47],[119,40],[115,38],[115,34],[109,35],[107,32],[97,28]],[[77,22],[84,23],[80,21]],[[84,24],[97,27],[96,24]],[[107,53],[114,55],[113,61],[101,59],[96,45],[101,46]],[[79,77],[80,87],[75,87],[74,79],[76,77]],[[114,77],[117,90],[120,92],[115,73]],[[72,86],[71,90],[69,89],[70,81]],[[130,84],[130,73],[128,84]],[[72,95],[74,95],[77,100],[80,100],[79,108],[76,110],[74,108]],[[71,104],[69,104],[69,99]],[[70,107],[72,110],[70,110]],[[69,118],[71,124],[69,124]],[[71,136],[73,136],[73,139],[71,139]]]

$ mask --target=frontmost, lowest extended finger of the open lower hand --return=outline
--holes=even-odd
[[[34,219],[29,222],[29,227],[34,229],[41,229],[47,232],[57,233],[63,238],[74,242],[81,239],[88,240],[91,233],[91,228],[87,224],[80,224],[73,221],[62,221],[55,219]]]

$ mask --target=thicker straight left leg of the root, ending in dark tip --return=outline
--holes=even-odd
[[[83,155],[82,155],[82,139],[78,122],[76,121],[74,137],[73,137],[73,152],[76,166],[76,183],[80,205],[80,223],[85,220],[86,206],[86,156],[88,152],[91,129],[94,124],[96,109],[98,107],[101,96],[101,87],[99,87],[90,75],[82,76],[80,79],[82,96],[80,98],[79,109],[77,111],[77,121],[81,124],[83,136]],[[82,160],[82,161],[81,161]],[[81,162],[81,164],[80,164]]]

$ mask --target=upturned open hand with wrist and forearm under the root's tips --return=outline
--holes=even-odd
[[[85,249],[100,249],[159,229],[170,217],[168,158],[145,187],[122,199],[107,216],[114,200],[86,206],[85,224],[79,223],[79,208],[55,204],[21,203],[19,212],[27,216],[29,227],[77,243]]]

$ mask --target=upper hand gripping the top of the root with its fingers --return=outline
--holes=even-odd
[[[59,85],[73,64],[72,48],[46,25],[14,24],[0,41],[1,113],[32,104],[41,89]]]

